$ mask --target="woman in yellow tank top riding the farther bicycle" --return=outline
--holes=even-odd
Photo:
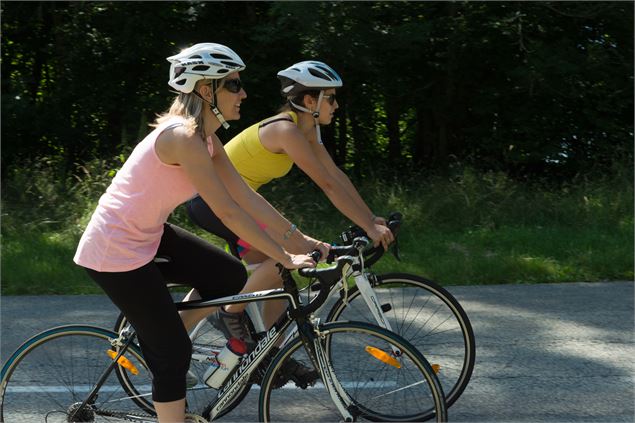
[[[335,93],[336,88],[342,86],[339,75],[322,62],[305,61],[278,72],[278,78],[282,83],[281,92],[287,99],[281,113],[250,126],[225,145],[238,173],[257,191],[271,180],[286,175],[296,164],[338,210],[366,231],[375,245],[388,248],[394,239],[385,219],[373,214],[322,144],[320,125],[330,124],[339,107]],[[226,239],[235,255],[247,263],[261,263],[250,280],[262,278],[260,286],[265,280],[270,281],[272,288],[281,286],[275,261],[239,240],[204,201],[198,197],[190,200],[187,210],[197,225]],[[281,234],[271,233],[270,228],[264,229],[281,240],[285,249],[294,251],[295,225]],[[266,324],[273,323],[282,312],[284,303],[277,303],[269,301],[265,305]],[[244,308],[244,304],[235,304],[227,307],[227,312],[241,312]]]

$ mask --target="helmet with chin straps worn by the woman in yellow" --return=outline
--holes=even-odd
[[[289,103],[298,110],[311,113],[315,120],[317,141],[322,144],[319,118],[320,106],[324,98],[324,90],[340,88],[344,85],[342,78],[326,63],[318,62],[317,60],[306,60],[278,72],[278,79],[280,79],[280,83],[282,84],[280,92],[287,98]],[[310,90],[320,90],[315,110],[309,110],[293,102],[292,99],[298,94]]]

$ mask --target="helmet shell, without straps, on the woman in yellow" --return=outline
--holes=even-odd
[[[281,92],[285,97],[293,97],[302,91],[339,88],[342,78],[329,65],[316,60],[296,63],[278,72],[282,83]]]

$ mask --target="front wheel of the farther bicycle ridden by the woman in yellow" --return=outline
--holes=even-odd
[[[470,381],[476,354],[474,331],[463,307],[446,289],[417,275],[377,275],[372,285],[379,304],[391,307],[384,314],[392,330],[418,348],[437,369],[450,407]],[[326,320],[376,324],[360,296],[358,287],[352,287],[348,304],[339,298]]]

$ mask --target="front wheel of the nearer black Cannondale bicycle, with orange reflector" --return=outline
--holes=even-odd
[[[320,325],[320,336],[337,346],[329,360],[345,396],[351,401],[353,419],[370,421],[447,420],[443,389],[430,364],[408,341],[393,332],[362,322]],[[371,356],[367,348],[402,351],[401,368]],[[302,389],[289,382],[277,388],[283,364],[293,358],[311,364],[302,340],[291,340],[273,359],[263,380],[258,403],[260,421],[339,421],[342,416],[318,382]],[[334,348],[335,350],[335,348]],[[372,350],[372,349],[371,349]],[[304,400],[298,400],[300,396]],[[390,401],[393,402],[390,402]]]

